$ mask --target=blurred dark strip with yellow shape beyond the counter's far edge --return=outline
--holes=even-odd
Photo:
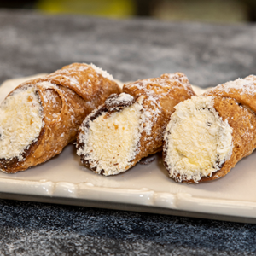
[[[0,0],[0,9],[3,8],[116,19],[151,16],[159,20],[216,23],[256,21],[256,0]]]

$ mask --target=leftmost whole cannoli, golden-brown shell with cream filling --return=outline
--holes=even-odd
[[[120,91],[111,75],[79,63],[20,84],[0,105],[0,170],[24,171],[60,154],[85,116]]]

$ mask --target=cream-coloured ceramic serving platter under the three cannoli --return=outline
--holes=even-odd
[[[31,78],[4,82],[0,102]],[[137,164],[123,174],[103,177],[82,166],[70,144],[52,160],[25,172],[1,172],[0,197],[256,223],[255,166],[256,152],[218,180],[175,183],[161,154],[155,154],[148,165]]]

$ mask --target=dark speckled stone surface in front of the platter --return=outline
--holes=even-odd
[[[256,225],[0,201],[9,255],[255,255]]]

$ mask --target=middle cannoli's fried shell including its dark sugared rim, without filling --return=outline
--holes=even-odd
[[[123,91],[124,93],[120,96],[110,96],[102,107],[91,113],[84,120],[80,127],[77,147],[82,163],[92,171],[105,176],[125,172],[131,166],[135,166],[143,157],[161,151],[163,131],[174,111],[173,107],[178,102],[195,96],[189,80],[183,73],[163,74],[160,78],[156,79],[138,80],[134,83],[125,84]],[[122,98],[125,100],[122,100]],[[140,125],[138,127],[139,139],[136,142],[137,146],[134,149],[133,157],[127,161],[125,166],[119,169],[114,167],[119,166],[118,162],[115,163],[118,155],[114,156],[114,171],[110,170],[112,168],[110,166],[110,171],[107,172],[106,169],[104,170],[104,168],[99,167],[97,164],[99,160],[90,158],[90,150],[88,149],[90,125],[102,114],[105,115],[104,119],[108,119],[113,113],[122,112],[125,108],[129,108],[134,104],[140,106],[141,113]],[[111,151],[111,148],[109,150]]]

